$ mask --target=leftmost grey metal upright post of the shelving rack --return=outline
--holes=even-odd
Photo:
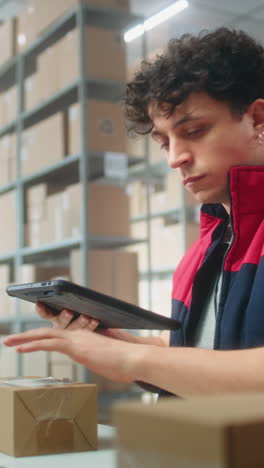
[[[15,254],[15,281],[18,281],[19,267],[22,264],[21,249],[24,246],[24,186],[21,181],[21,144],[23,132],[22,112],[24,109],[24,54],[18,54],[16,62],[16,83],[18,91],[17,99],[17,120],[16,120],[16,226],[17,241]],[[22,331],[22,317],[20,303],[16,301],[16,319],[13,323],[13,333]],[[17,354],[16,373],[22,375],[22,355]]]

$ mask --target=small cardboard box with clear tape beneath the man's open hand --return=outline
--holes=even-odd
[[[41,380],[0,382],[0,451],[25,457],[95,450],[96,386]]]

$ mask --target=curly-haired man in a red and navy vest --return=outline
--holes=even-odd
[[[53,329],[5,344],[60,351],[105,377],[166,394],[264,391],[264,49],[226,28],[185,35],[142,65],[126,106],[132,129],[152,132],[203,203],[200,238],[173,279],[181,329],[170,339],[99,334],[96,321],[81,317],[65,330],[64,311]]]

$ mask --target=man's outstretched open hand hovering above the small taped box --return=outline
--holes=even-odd
[[[39,328],[11,335],[4,340],[4,344],[16,346],[20,353],[64,353],[91,371],[118,382],[132,382],[136,379],[134,363],[145,348],[144,345],[126,343],[93,333],[87,328]]]

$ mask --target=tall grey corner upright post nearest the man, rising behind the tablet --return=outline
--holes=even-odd
[[[88,180],[89,180],[89,148],[88,148],[88,105],[87,105],[87,85],[86,85],[86,10],[85,5],[80,4],[77,9],[76,26],[79,30],[79,86],[78,101],[80,105],[80,162],[79,174],[81,184],[81,270],[83,284],[89,286],[89,213],[88,213]],[[91,380],[90,372],[84,368],[83,378],[86,382]]]

